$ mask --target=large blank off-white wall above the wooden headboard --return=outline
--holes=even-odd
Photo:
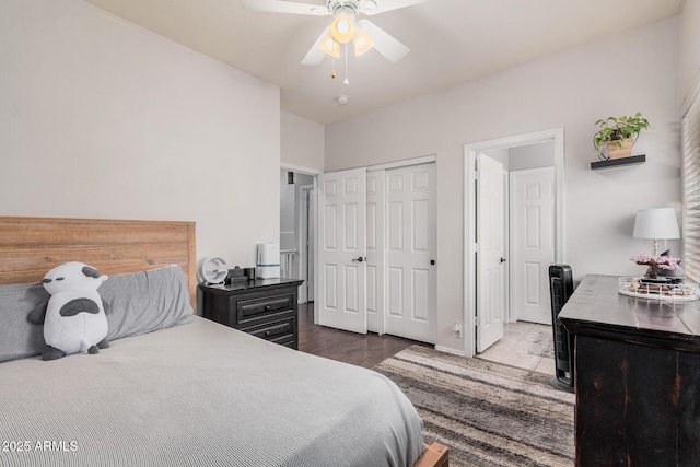
[[[2,0],[0,215],[197,222],[197,256],[279,238],[279,87],[81,0]]]

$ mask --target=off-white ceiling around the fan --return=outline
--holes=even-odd
[[[371,16],[411,51],[396,63],[350,54],[347,87],[343,58],[336,79],[330,57],[300,63],[330,16],[249,11],[240,0],[86,1],[273,83],[282,109],[331,124],[677,15],[685,0],[430,0]]]

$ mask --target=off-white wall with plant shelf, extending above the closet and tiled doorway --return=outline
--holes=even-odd
[[[438,343],[462,350],[464,144],[565,128],[565,259],[574,273],[639,273],[638,209],[680,199],[677,17],[327,126],[326,171],[438,155]],[[643,165],[592,172],[594,122],[642,112]]]

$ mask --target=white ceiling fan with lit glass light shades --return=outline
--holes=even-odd
[[[429,0],[325,0],[324,5],[298,3],[284,0],[241,0],[248,10],[276,13],[334,16],[308,50],[302,65],[318,65],[326,55],[340,56],[340,45],[352,40],[355,56],[374,48],[392,63],[400,60],[409,48],[369,20],[358,15],[374,15]]]

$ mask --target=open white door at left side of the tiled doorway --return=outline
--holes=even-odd
[[[503,164],[477,155],[477,352],[503,337]]]

